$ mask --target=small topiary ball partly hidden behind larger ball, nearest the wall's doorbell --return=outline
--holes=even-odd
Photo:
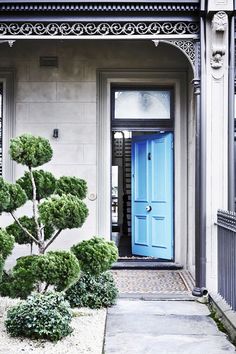
[[[56,193],[73,194],[80,199],[84,199],[87,194],[87,183],[85,180],[77,177],[61,177],[57,180]]]

